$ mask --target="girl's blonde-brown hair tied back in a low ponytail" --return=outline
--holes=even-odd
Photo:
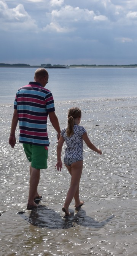
[[[81,110],[80,108],[70,108],[68,112],[68,126],[67,126],[67,136],[70,137],[74,134],[73,126],[74,126],[74,119],[77,117],[81,117]]]

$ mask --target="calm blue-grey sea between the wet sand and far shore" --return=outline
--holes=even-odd
[[[12,104],[36,68],[0,68],[0,103]],[[137,68],[48,69],[54,101],[137,97]]]

